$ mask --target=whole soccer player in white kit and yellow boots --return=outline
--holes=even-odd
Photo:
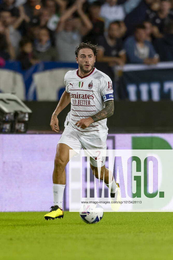
[[[65,129],[57,145],[53,171],[53,202],[51,211],[44,217],[46,220],[63,218],[63,193],[66,184],[65,167],[69,161],[70,149],[106,149],[108,128],[107,118],[114,113],[112,82],[103,72],[94,67],[97,46],[91,43],[80,43],[75,49],[79,68],[65,74],[64,91],[57,108],[52,114],[50,126],[59,132],[58,114],[71,102],[71,111],[65,120]],[[98,177],[96,157],[90,157],[93,174]],[[102,157],[100,179],[109,187],[110,196],[115,197],[115,179],[109,183],[109,170]]]

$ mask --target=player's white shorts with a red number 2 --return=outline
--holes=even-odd
[[[101,138],[84,138],[80,134],[77,134],[71,127],[66,126],[64,132],[62,133],[58,144],[66,144],[70,148],[75,150],[90,149],[90,150],[106,150],[106,139],[107,135],[102,136]],[[106,157],[101,159],[101,167],[105,165]],[[95,157],[90,157],[91,165],[98,167],[97,160]]]

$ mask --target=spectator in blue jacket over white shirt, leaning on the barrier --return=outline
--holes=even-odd
[[[127,38],[124,48],[127,54],[128,63],[157,64],[158,54],[153,45],[146,40],[145,26],[138,25],[134,36]]]

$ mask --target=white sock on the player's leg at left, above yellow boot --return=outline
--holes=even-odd
[[[53,183],[53,203],[54,206],[58,205],[61,209],[63,208],[63,194],[65,185]]]

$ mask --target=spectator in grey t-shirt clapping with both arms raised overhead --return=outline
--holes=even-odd
[[[75,1],[60,18],[56,35],[59,61],[75,62],[75,47],[81,42],[82,36],[93,28],[91,21],[82,10],[84,2],[85,0]],[[79,18],[74,17],[75,11]]]

